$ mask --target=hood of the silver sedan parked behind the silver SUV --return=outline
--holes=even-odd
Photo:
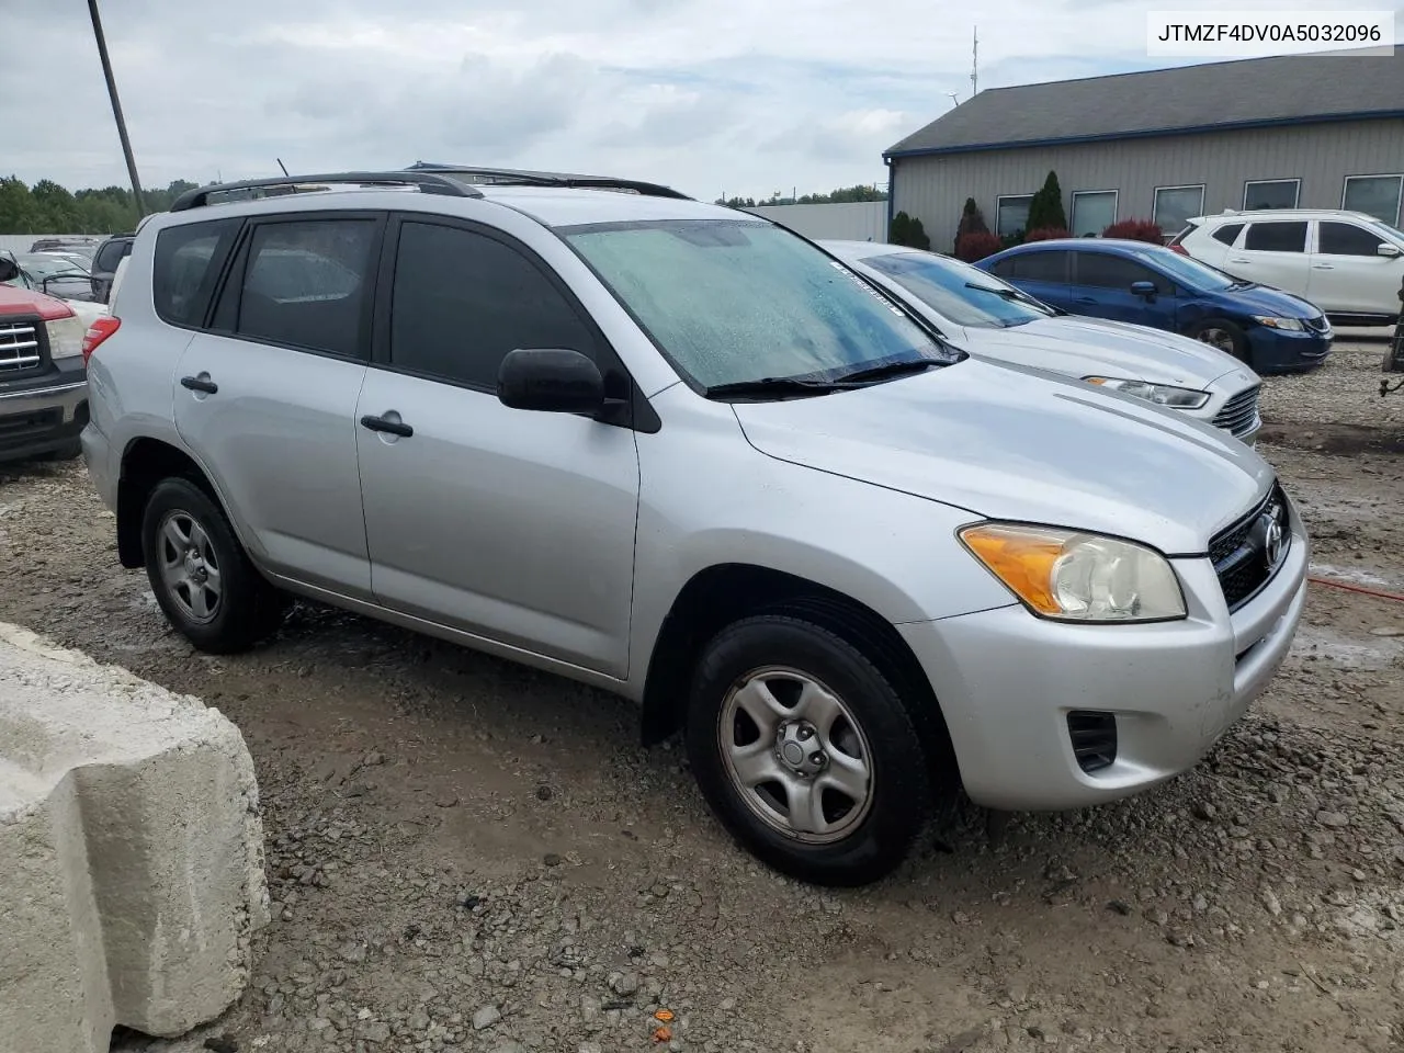
[[[966,327],[965,348],[1021,365],[1082,376],[1206,388],[1244,366],[1198,340],[1126,322],[1081,316],[1036,319],[1009,329]],[[1245,372],[1245,371],[1244,371]]]

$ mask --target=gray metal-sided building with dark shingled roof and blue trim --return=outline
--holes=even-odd
[[[892,146],[889,211],[949,253],[966,198],[1022,229],[1056,171],[1074,234],[1243,208],[1349,208],[1398,226],[1404,46],[981,91]]]

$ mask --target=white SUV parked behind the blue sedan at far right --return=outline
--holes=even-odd
[[[1170,247],[1236,278],[1294,292],[1337,324],[1390,326],[1398,319],[1404,233],[1365,212],[1196,216]]]

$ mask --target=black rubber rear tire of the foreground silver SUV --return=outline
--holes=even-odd
[[[202,548],[208,560],[197,559],[197,563],[206,577],[211,567],[215,570],[219,587],[215,602],[209,601],[208,590],[201,590],[205,618],[195,616],[190,587],[173,587],[163,573],[174,553],[173,543],[163,538],[167,522],[174,522],[177,529],[192,522],[206,542]],[[164,479],[152,490],[142,514],[142,553],[156,602],[170,623],[199,650],[233,654],[278,629],[284,614],[278,592],[250,563],[223,510],[191,480]]]

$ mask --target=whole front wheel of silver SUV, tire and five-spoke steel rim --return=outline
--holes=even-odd
[[[687,739],[717,819],[800,880],[883,878],[929,814],[925,748],[903,699],[862,651],[797,618],[717,633],[694,675]]]

